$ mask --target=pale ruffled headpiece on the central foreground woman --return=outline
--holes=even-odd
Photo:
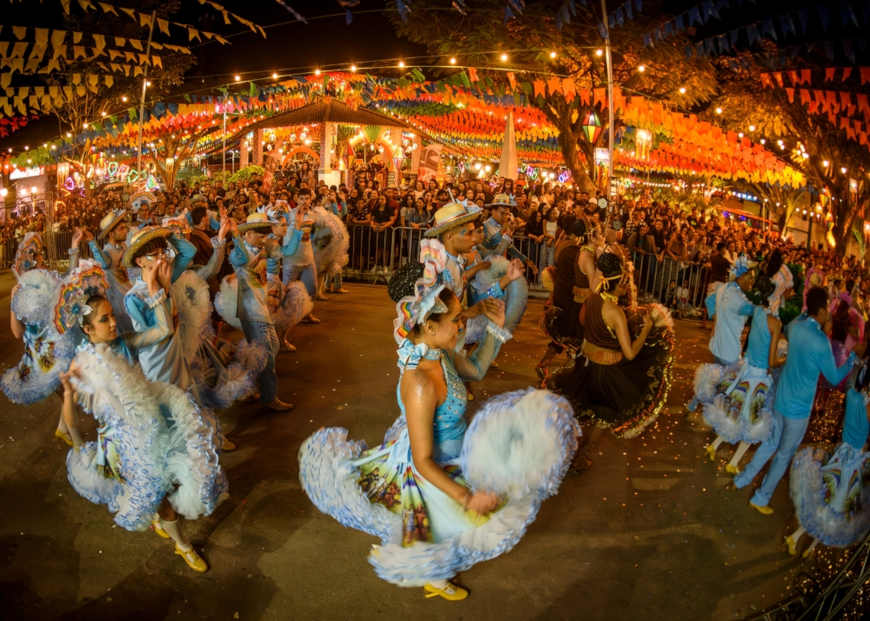
[[[414,295],[403,297],[396,304],[396,318],[393,320],[393,337],[401,345],[415,326],[422,324],[433,312],[447,311],[444,302],[438,297],[444,285],[438,284],[438,274],[447,265],[447,249],[437,239],[424,239],[420,242],[420,262],[423,275],[414,283]]]

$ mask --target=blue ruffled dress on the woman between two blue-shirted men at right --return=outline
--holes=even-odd
[[[716,367],[709,370],[708,381],[716,376],[718,381],[702,387],[698,393],[705,395],[704,420],[731,444],[755,444],[781,433],[782,422],[773,414],[776,391],[768,372],[771,334],[767,317],[767,311],[755,307],[746,357],[736,366],[708,365]]]

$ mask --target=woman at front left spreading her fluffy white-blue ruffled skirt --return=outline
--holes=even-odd
[[[154,270],[143,270],[158,286]],[[184,390],[149,382],[136,365],[136,349],[170,333],[165,308],[155,325],[119,337],[112,307],[92,295],[67,299],[67,318],[77,316],[86,341],[63,376],[62,416],[72,436],[67,454],[70,484],[87,500],[107,505],[127,530],[149,526],[175,543],[175,553],[197,572],[208,565],[182,535],[179,514],[209,515],[225,497],[227,481],[218,460],[220,434]],[[97,421],[97,440],[83,442],[75,401]]]

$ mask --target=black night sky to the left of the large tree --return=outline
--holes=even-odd
[[[398,58],[421,54],[422,48],[407,41],[400,41],[386,17],[384,0],[361,0],[353,9],[353,19],[348,25],[344,9],[335,0],[286,0],[287,4],[308,19],[307,24],[295,21],[294,16],[276,0],[224,0],[222,4],[230,11],[263,26],[267,38],[263,39],[245,26],[233,23],[225,25],[221,15],[197,0],[176,0],[181,10],[172,19],[189,23],[202,30],[217,32],[227,37],[231,45],[207,43],[191,49],[197,56],[197,64],[187,73],[181,92],[193,91],[208,86],[229,82],[236,73],[242,77],[255,77],[253,73],[278,71],[282,75],[294,71],[313,70],[327,64],[349,65],[370,59]],[[126,0],[123,6],[148,10],[154,4],[148,0]],[[2,6],[5,5],[5,6]],[[10,2],[0,0],[3,10],[2,23],[20,26],[67,28],[58,0],[24,0]],[[74,14],[80,13],[75,0]],[[95,32],[114,34],[107,29],[95,28]],[[4,40],[11,39],[3,31]],[[172,42],[185,44],[176,36]],[[125,33],[133,36],[133,33]],[[142,38],[146,38],[142,35]],[[155,40],[167,40],[158,37]],[[32,122],[11,137],[0,140],[0,149],[20,151],[25,144],[41,144],[57,137],[57,123],[53,117]]]

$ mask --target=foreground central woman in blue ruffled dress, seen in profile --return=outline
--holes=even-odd
[[[426,597],[464,599],[468,592],[449,580],[516,545],[577,446],[570,406],[547,391],[496,397],[466,426],[463,380],[481,379],[509,337],[499,327],[503,304],[482,306],[490,328],[466,358],[456,353],[462,306],[451,289],[421,286],[403,298],[395,321],[401,415],[383,444],[365,450],[346,429],[329,428],[299,450],[299,478],[317,508],[380,537],[369,555],[378,575],[423,586]]]

